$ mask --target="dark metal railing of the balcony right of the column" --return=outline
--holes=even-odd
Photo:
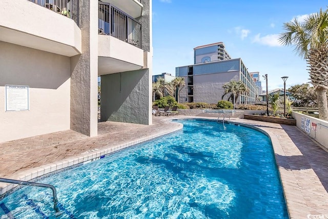
[[[99,2],[98,33],[141,48],[141,24],[111,4]]]

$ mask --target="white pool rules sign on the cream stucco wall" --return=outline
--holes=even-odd
[[[6,85],[6,111],[29,110],[29,86]]]

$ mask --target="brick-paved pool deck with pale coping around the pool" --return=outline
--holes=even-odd
[[[98,158],[182,128],[173,118],[153,116],[153,125],[98,123],[98,136],[67,130],[0,143],[0,177],[30,180]],[[295,126],[232,118],[267,132],[272,140],[290,218],[328,216],[328,153]],[[0,194],[12,188],[0,183]]]

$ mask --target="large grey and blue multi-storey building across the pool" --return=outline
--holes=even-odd
[[[222,42],[194,48],[194,64],[176,67],[175,74],[186,82],[180,91],[180,103],[217,103],[224,92],[222,86],[232,80],[242,81],[250,90],[236,103],[253,103],[258,96],[254,79],[241,58],[232,59]]]

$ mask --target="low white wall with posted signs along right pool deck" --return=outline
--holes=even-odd
[[[304,118],[304,127],[302,127],[302,117]],[[304,115],[298,112],[293,112],[293,118],[296,119],[296,126],[300,130],[309,134],[315,141],[320,143],[323,147],[328,149],[328,122],[324,120],[319,120],[318,118]],[[306,118],[310,120],[310,133],[306,132],[305,122]],[[312,127],[312,123],[316,125],[316,127]]]

